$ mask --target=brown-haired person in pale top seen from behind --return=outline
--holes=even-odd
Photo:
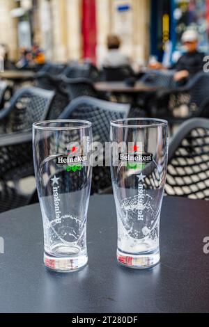
[[[125,56],[120,51],[121,40],[117,35],[107,36],[107,55],[102,62],[104,67],[118,67],[130,65],[130,58]]]

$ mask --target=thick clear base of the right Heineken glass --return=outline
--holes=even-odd
[[[134,255],[133,253],[124,253],[121,250],[117,250],[117,260],[119,264],[135,269],[146,269],[155,266],[160,261],[160,250],[156,250],[148,253],[141,253],[140,255]]]

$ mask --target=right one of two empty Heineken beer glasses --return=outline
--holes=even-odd
[[[167,172],[167,121],[111,122],[111,179],[118,220],[118,262],[148,268],[160,260],[160,210]]]

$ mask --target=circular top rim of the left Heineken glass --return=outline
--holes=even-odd
[[[58,126],[53,127],[49,126],[53,123],[81,123],[81,125],[75,125],[75,126]],[[33,122],[33,129],[42,129],[42,130],[52,130],[52,131],[62,131],[62,130],[70,130],[70,129],[83,129],[83,128],[89,128],[91,127],[91,122],[88,122],[88,120],[79,120],[79,119],[54,119],[54,120],[40,120],[38,122]]]

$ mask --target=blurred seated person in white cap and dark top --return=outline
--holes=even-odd
[[[185,31],[181,38],[186,53],[178,59],[178,62],[172,67],[176,70],[174,81],[183,84],[188,77],[203,71],[204,54],[198,51],[198,34],[192,29]]]

